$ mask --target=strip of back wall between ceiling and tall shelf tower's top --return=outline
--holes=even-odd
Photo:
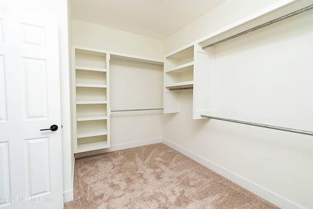
[[[72,44],[131,54],[152,59],[163,59],[160,40],[72,19]]]

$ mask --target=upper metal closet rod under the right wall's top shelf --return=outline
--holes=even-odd
[[[285,19],[290,18],[290,17],[295,16],[295,15],[301,14],[302,12],[308,11],[308,10],[310,10],[310,9],[313,9],[313,4],[310,5],[310,6],[304,7],[304,8],[302,8],[302,9],[299,9],[299,10],[297,10],[297,11],[291,12],[291,13],[288,14],[288,15],[284,15],[284,16],[282,16],[282,17],[280,17],[280,18],[274,19],[274,20],[269,21],[269,22],[267,22],[267,23],[260,24],[260,25],[258,25],[258,26],[255,26],[255,27],[251,28],[251,29],[248,29],[248,30],[246,30],[246,31],[244,31],[244,32],[241,32],[241,33],[238,33],[238,34],[236,34],[236,35],[233,35],[233,36],[230,36],[230,37],[228,37],[228,38],[225,38],[225,39],[223,39],[223,40],[221,40],[221,41],[215,42],[215,43],[210,44],[210,45],[207,45],[207,46],[203,46],[202,49],[206,49],[206,48],[208,48],[208,47],[221,44],[221,43],[223,43],[223,42],[225,42],[225,41],[229,41],[229,40],[231,40],[231,39],[233,39],[233,38],[237,38],[238,36],[245,35],[245,34],[247,34],[247,33],[249,33],[249,32],[255,31],[255,30],[260,29],[260,28],[262,28],[262,27],[268,26],[268,25],[273,24],[273,23],[280,22],[280,21],[282,21],[282,20],[285,20]]]

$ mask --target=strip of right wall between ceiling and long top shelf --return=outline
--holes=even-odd
[[[235,23],[262,9],[294,0],[225,0],[199,19],[164,40],[164,54],[188,45],[231,23]]]

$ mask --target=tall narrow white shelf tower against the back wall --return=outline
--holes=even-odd
[[[109,57],[73,46],[74,153],[110,147]]]

